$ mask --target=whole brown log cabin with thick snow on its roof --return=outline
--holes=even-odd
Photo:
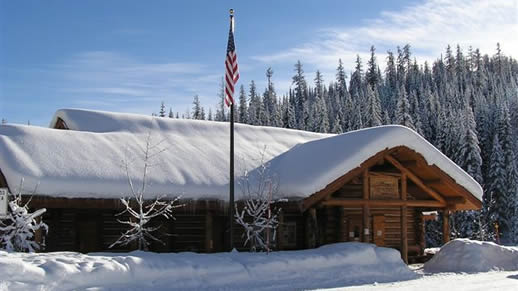
[[[139,155],[149,141],[164,149],[153,161],[147,199],[181,196],[175,220],[160,221],[157,252],[218,252],[228,240],[228,124],[103,111],[63,109],[50,127],[0,127],[0,187],[46,208],[45,251],[109,249],[128,177],[142,182]],[[365,242],[423,254],[427,211],[449,215],[481,208],[480,185],[419,134],[391,125],[340,135],[236,124],[236,199],[245,177],[265,163],[277,183],[278,250]],[[124,165],[130,165],[124,167]],[[124,170],[126,169],[126,170]],[[24,183],[20,187],[20,181]],[[235,247],[246,250],[234,224]]]

